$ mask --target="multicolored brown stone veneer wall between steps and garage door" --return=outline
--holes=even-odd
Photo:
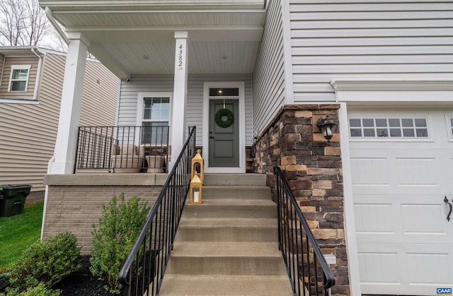
[[[275,199],[279,166],[324,254],[336,256],[333,295],[350,295],[343,223],[343,172],[340,135],[328,143],[316,126],[329,114],[338,123],[339,105],[286,105],[251,148],[253,172],[267,174]],[[337,129],[338,130],[338,129]]]

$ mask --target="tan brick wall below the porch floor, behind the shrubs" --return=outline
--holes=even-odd
[[[93,224],[99,223],[103,203],[124,193],[126,200],[135,194],[152,207],[161,190],[161,186],[49,186],[42,239],[69,231],[77,237],[81,254],[88,255],[92,246],[91,230]]]

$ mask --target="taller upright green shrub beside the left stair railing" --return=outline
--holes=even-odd
[[[93,276],[107,280],[105,290],[118,294],[122,288],[118,279],[120,269],[147,220],[149,207],[134,195],[126,202],[124,194],[113,196],[108,206],[103,203],[102,207],[99,227],[93,225],[91,232],[90,270]]]

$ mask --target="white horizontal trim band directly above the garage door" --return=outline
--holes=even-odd
[[[453,102],[453,80],[333,80],[338,102]]]

